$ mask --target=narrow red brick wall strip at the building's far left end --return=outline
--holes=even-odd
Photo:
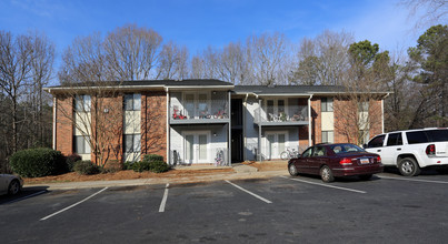
[[[56,96],[56,150],[64,155],[73,153],[73,99]]]

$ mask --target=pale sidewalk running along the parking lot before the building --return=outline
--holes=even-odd
[[[283,162],[278,163],[280,166],[285,164]],[[198,166],[180,166],[176,167],[179,171],[196,171],[205,169],[223,169],[208,165]],[[228,169],[228,167],[225,167]],[[167,177],[148,177],[148,179],[137,179],[137,180],[119,180],[119,181],[84,181],[84,182],[62,182],[62,183],[41,183],[41,184],[26,184],[23,187],[46,187],[48,191],[53,190],[70,190],[70,189],[91,189],[91,187],[113,187],[113,186],[136,186],[136,185],[151,185],[151,184],[167,184],[167,183],[197,183],[197,182],[213,182],[213,181],[232,181],[232,180],[243,180],[243,179],[266,179],[275,177],[279,175],[288,175],[288,171],[285,170],[263,170],[259,171],[255,166],[246,164],[233,164],[233,172],[227,173],[210,173],[206,175],[189,175],[189,176],[167,176]]]

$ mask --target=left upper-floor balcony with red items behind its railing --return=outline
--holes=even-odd
[[[226,100],[185,101],[171,104],[170,124],[230,123],[229,114]]]

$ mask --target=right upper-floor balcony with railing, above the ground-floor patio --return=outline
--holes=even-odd
[[[306,125],[308,124],[308,106],[258,108],[253,113],[253,123],[258,125]]]

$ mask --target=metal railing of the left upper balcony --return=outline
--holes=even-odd
[[[171,105],[171,120],[229,119],[229,102],[226,100],[183,101]]]

